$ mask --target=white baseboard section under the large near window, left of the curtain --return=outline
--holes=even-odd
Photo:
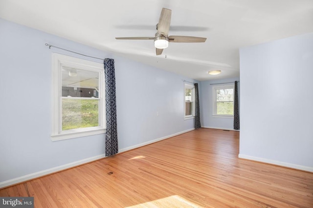
[[[92,161],[95,161],[95,160],[98,160],[98,159],[102,159],[104,157],[106,157],[105,154],[100,154],[98,156],[89,157],[89,158],[86,158],[86,159],[83,159],[83,160],[79,160],[79,161],[75,161],[75,162],[72,162],[72,163],[67,163],[67,164],[62,165],[62,166],[57,166],[57,167],[50,168],[50,169],[47,169],[47,170],[42,170],[42,171],[34,172],[34,173],[31,173],[31,174],[28,174],[28,175],[23,175],[23,176],[18,177],[18,178],[13,178],[13,179],[10,179],[10,180],[7,180],[7,181],[0,182],[0,188],[11,186],[11,185],[14,185],[14,184],[18,184],[18,183],[21,183],[21,182],[24,182],[24,181],[28,181],[28,180],[31,180],[31,179],[34,179],[34,178],[42,177],[42,176],[45,176],[45,175],[48,175],[48,174],[51,174],[51,173],[54,173],[54,172],[58,172],[58,171],[61,171],[61,170],[66,170],[66,169],[69,169],[69,168],[72,168],[72,167],[75,167],[75,166],[79,166],[79,165],[82,165],[82,164],[85,164],[85,163],[89,163],[89,162],[92,162]]]

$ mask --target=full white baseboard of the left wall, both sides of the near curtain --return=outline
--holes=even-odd
[[[138,144],[138,145],[134,145],[134,146],[131,146],[131,147],[128,147],[128,148],[120,149],[118,152],[129,151],[129,150],[132,150],[132,149],[135,149],[135,148],[139,148],[139,147],[142,147],[142,146],[145,146],[145,145],[148,145],[148,144],[152,144],[152,143],[155,143],[157,141],[161,141],[163,139],[167,139],[167,138],[170,138],[170,137],[173,137],[173,136],[177,136],[179,134],[190,132],[190,131],[193,131],[193,130],[195,130],[195,129],[193,128],[193,129],[189,129],[189,130],[186,130],[186,131],[174,133],[172,135],[164,136],[164,137],[152,140],[152,141],[148,141],[148,142],[144,142],[144,143],[141,143],[141,144]],[[51,173],[54,173],[54,172],[58,172],[58,171],[61,171],[61,170],[66,170],[66,169],[69,169],[69,168],[73,168],[75,166],[83,165],[83,164],[86,164],[86,163],[89,163],[89,162],[92,162],[92,161],[95,161],[95,160],[98,160],[98,159],[102,159],[102,158],[105,158],[105,157],[106,157],[105,154],[100,154],[98,156],[89,157],[89,158],[86,158],[86,159],[83,159],[83,160],[79,160],[79,161],[75,161],[75,162],[72,162],[72,163],[67,163],[67,164],[62,165],[62,166],[57,166],[57,167],[50,168],[50,169],[47,169],[47,170],[42,170],[42,171],[34,172],[34,173],[31,173],[31,174],[28,174],[28,175],[23,175],[23,176],[18,177],[18,178],[13,178],[13,179],[10,179],[10,180],[7,180],[7,181],[2,181],[2,182],[0,182],[0,189],[4,188],[4,187],[12,186],[14,184],[22,183],[24,181],[28,181],[28,180],[31,180],[31,179],[34,179],[34,178],[42,177],[42,176],[45,176],[45,175],[48,175],[48,174],[51,174]]]

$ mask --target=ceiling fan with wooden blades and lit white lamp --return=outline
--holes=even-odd
[[[154,40],[156,47],[156,55],[161,55],[163,49],[168,47],[169,42],[205,42],[206,38],[190,37],[190,36],[168,36],[170,30],[172,10],[162,8],[160,19],[156,24],[155,37],[124,37],[115,39],[131,39],[131,40]]]

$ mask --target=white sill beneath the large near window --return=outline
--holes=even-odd
[[[91,136],[95,134],[101,134],[105,133],[106,129],[91,129],[91,130],[81,130],[81,131],[65,131],[59,134],[52,134],[51,140],[52,141],[59,141],[59,140],[65,140],[65,139],[72,139],[77,137],[83,137],[83,136]]]

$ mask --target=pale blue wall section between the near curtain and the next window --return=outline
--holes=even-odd
[[[183,119],[186,77],[120,57],[115,73],[119,149],[194,127]]]

